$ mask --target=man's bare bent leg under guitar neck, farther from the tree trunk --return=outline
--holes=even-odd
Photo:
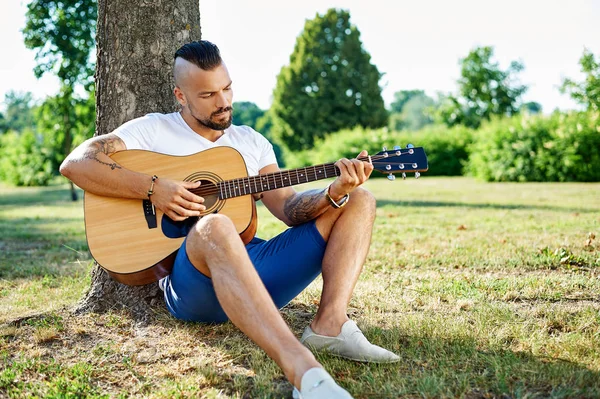
[[[373,195],[358,188],[350,196],[345,207],[332,208],[316,222],[327,240],[327,249],[323,258],[321,303],[311,328],[317,334],[331,337],[337,336],[342,324],[348,321],[346,311],[371,245],[375,221]]]

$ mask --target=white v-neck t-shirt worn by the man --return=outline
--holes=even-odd
[[[128,150],[167,155],[185,156],[213,147],[233,147],[244,157],[249,176],[257,175],[267,165],[277,164],[271,143],[251,127],[231,125],[213,143],[194,132],[179,112],[148,114],[124,123],[114,133]]]

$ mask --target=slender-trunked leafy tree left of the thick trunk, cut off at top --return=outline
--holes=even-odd
[[[72,119],[77,86],[91,91],[93,87],[94,62],[90,59],[94,49],[96,32],[96,0],[33,0],[27,6],[26,25],[23,29],[25,46],[36,50],[37,65],[34,69],[39,78],[53,73],[61,83],[57,100],[62,130],[62,156],[71,152]],[[71,183],[71,197],[77,193]]]

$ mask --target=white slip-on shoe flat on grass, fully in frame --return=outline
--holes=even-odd
[[[400,360],[398,355],[370,343],[352,320],[342,325],[342,332],[337,337],[315,334],[309,325],[300,342],[313,351],[323,351],[357,362],[394,363]]]

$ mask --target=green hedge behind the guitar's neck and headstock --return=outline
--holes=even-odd
[[[354,158],[365,149],[375,154],[382,147],[392,148],[395,145],[405,147],[413,144],[423,147],[429,161],[428,175],[457,176],[462,174],[464,163],[468,158],[467,147],[473,139],[472,130],[456,126],[427,126],[417,132],[390,132],[387,128],[341,130],[318,140],[311,150],[292,153],[284,152],[286,166],[296,168],[323,162],[332,162],[339,158]]]

